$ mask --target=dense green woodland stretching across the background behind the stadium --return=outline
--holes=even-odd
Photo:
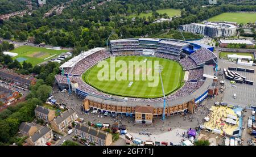
[[[27,40],[34,37],[34,43],[45,42],[53,46],[67,46],[75,48],[93,48],[105,46],[106,39],[112,30],[115,31],[111,39],[151,36],[164,29],[177,28],[180,24],[200,22],[212,16],[227,11],[255,11],[255,6],[218,5],[202,8],[204,1],[185,1],[177,5],[176,1],[111,1],[96,9],[81,7],[88,1],[74,1],[65,8],[59,16],[42,18],[48,9],[40,9],[33,14],[15,17],[0,24],[0,36],[10,39]],[[155,18],[167,16],[155,12],[165,8],[183,9],[181,17],[174,18],[172,22],[152,23]],[[132,21],[130,14],[141,14],[151,10],[152,16],[148,18],[135,18]]]

